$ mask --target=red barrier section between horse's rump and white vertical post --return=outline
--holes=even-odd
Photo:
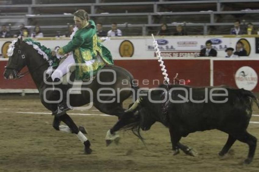
[[[190,79],[190,85],[208,86],[210,84],[210,60],[164,60],[165,68],[172,82],[176,73],[179,73],[179,79]],[[158,79],[163,83],[161,67],[157,60],[115,60],[115,65],[122,66],[129,70],[135,79],[139,80],[140,87],[156,87]],[[144,85],[143,80],[147,79],[149,85]]]

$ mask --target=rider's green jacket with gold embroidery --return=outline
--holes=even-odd
[[[89,78],[91,72],[95,75],[98,70],[105,66],[105,63],[113,64],[111,52],[98,41],[93,20],[89,20],[88,26],[78,29],[72,40],[64,47],[59,48],[58,53],[65,55],[72,51],[75,62],[82,63],[82,65],[76,65],[76,79],[78,80]],[[104,63],[96,59],[98,52]],[[85,62],[89,60],[95,61],[90,65],[85,65]]]

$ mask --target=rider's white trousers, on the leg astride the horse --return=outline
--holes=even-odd
[[[73,53],[69,53],[69,56],[58,66],[58,68],[52,73],[51,78],[54,81],[55,78],[61,79],[67,72],[69,72],[68,66],[74,64],[75,59]]]

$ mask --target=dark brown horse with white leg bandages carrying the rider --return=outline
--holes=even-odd
[[[4,72],[6,79],[14,79],[20,77],[18,74],[23,67],[27,66],[34,83],[39,90],[39,95],[42,104],[51,112],[57,109],[58,102],[61,94],[55,94],[52,84],[46,84],[44,71],[49,67],[49,63],[38,54],[32,45],[28,45],[22,39],[18,39],[15,43],[12,56],[9,57],[8,65]],[[70,76],[71,81],[74,81],[75,74]],[[132,84],[133,76],[127,70],[119,66],[105,66],[97,74],[97,78],[90,84],[83,84],[81,94],[71,94],[68,98],[72,107],[79,107],[88,103],[93,103],[98,110],[108,115],[115,115],[119,118],[124,114],[125,109],[122,107],[122,102],[133,95],[136,89]],[[106,84],[110,82],[110,84]],[[73,85],[68,84],[67,88]],[[48,91],[46,91],[48,90]],[[69,90],[71,93],[71,89]],[[102,96],[100,96],[102,94]],[[106,94],[106,95],[105,95]],[[134,94],[135,95],[135,94]],[[134,96],[133,96],[134,97]],[[54,103],[46,102],[56,101]],[[102,100],[102,101],[100,101]],[[105,101],[105,102],[104,102]],[[67,126],[59,125],[63,121]],[[76,124],[68,116],[55,116],[53,127],[56,130],[71,131],[78,135],[78,138],[85,145],[85,153],[91,153],[89,140],[82,135]],[[115,133],[110,134],[109,138],[115,140],[118,135]]]

